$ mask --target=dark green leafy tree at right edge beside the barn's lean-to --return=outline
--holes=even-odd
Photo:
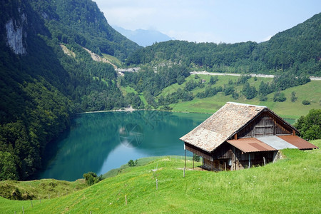
[[[301,116],[294,125],[299,136],[307,140],[321,139],[321,109],[311,109],[307,116]]]

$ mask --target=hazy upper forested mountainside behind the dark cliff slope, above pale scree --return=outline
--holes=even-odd
[[[114,30],[91,0],[32,1],[31,5],[46,22],[51,36],[62,43],[76,43],[121,60],[140,48]]]

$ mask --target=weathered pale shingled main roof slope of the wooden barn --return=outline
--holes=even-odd
[[[199,126],[181,137],[180,140],[211,152],[265,109],[268,108],[228,102]]]

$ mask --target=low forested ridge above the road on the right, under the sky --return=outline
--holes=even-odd
[[[277,73],[291,71],[321,76],[321,14],[282,31],[260,44],[196,44],[166,41],[140,49],[128,58],[128,65],[164,62],[192,69],[233,73]]]

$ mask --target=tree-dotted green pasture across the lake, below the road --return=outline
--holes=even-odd
[[[198,76],[200,76],[200,78],[204,78],[205,80],[207,80],[206,82],[208,82],[210,78],[210,76],[207,76],[207,75],[198,75]],[[193,78],[193,76],[189,76],[188,78]],[[218,78],[219,78],[219,81],[213,86],[223,87],[224,84],[228,83],[229,79],[232,79],[233,81],[238,79],[237,76],[218,76]],[[258,78],[257,81],[254,81],[254,78],[250,78],[248,80],[248,82],[250,83],[250,86],[255,86],[257,90],[260,86],[261,81],[268,82],[268,81],[272,81],[272,79]],[[183,88],[184,84],[185,83],[182,84],[181,88]],[[172,86],[169,86],[168,88],[165,88],[164,91],[177,90],[178,85],[177,86],[175,85],[177,85],[177,83],[173,85],[173,88],[171,88]],[[236,91],[239,94],[242,88],[243,86],[235,87]],[[204,90],[205,88],[195,88],[192,92],[195,95],[196,93]],[[297,101],[295,101],[295,103],[292,103],[290,101],[292,91],[295,91],[297,96]],[[189,101],[189,102],[173,103],[170,105],[170,107],[173,108],[173,111],[214,113],[215,111],[218,111],[218,109],[222,107],[226,102],[233,101],[238,103],[248,103],[253,105],[267,106],[268,108],[272,109],[272,111],[275,111],[275,113],[282,116],[283,118],[294,118],[294,119],[299,118],[300,116],[306,115],[312,108],[315,108],[315,109],[320,108],[321,81],[311,81],[310,83],[307,83],[302,86],[287,88],[285,91],[282,91],[282,92],[285,93],[285,96],[287,98],[287,100],[282,103],[272,101],[274,93],[270,93],[267,96],[268,98],[267,101],[263,102],[263,101],[259,101],[258,96],[251,100],[247,100],[244,96],[240,96],[240,98],[235,100],[232,96],[224,96],[223,92],[220,92],[210,98],[202,98],[202,99],[194,98],[193,101]],[[303,105],[302,101],[305,99],[309,100],[311,104],[308,106]]]

